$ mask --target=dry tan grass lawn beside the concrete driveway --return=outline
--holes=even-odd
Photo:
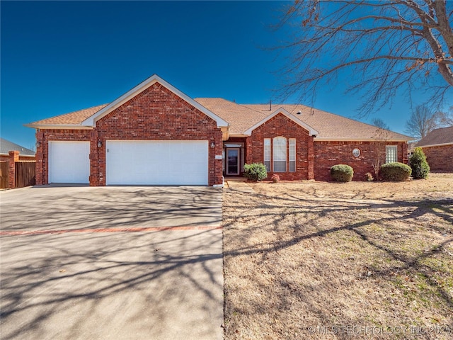
[[[453,174],[224,189],[225,337],[453,339]]]

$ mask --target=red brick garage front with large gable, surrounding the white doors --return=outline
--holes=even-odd
[[[208,185],[222,184],[222,131],[217,123],[159,83],[149,86],[105,117],[93,130],[41,130],[36,133],[36,183],[48,183],[48,142],[90,141],[90,185],[105,186],[107,140],[207,140]],[[98,142],[102,143],[98,147]]]

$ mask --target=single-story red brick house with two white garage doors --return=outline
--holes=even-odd
[[[190,98],[157,75],[112,103],[39,120],[36,183],[222,186],[261,162],[281,179],[372,171],[377,128],[302,105]],[[387,131],[386,162],[407,162],[410,137]],[[382,144],[382,142],[381,142]]]

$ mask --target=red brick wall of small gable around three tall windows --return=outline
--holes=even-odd
[[[246,140],[246,163],[264,162],[264,139],[270,138],[270,172],[273,173],[273,138],[287,139],[287,170],[289,169],[289,138],[296,138],[296,172],[277,172],[282,180],[309,179],[309,140],[312,138],[309,131],[294,123],[282,113],[275,115],[263,125],[253,130]]]

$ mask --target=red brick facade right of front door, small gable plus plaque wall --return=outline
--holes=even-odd
[[[398,162],[406,163],[407,143],[386,142],[380,145],[376,142],[334,142],[316,141],[316,138],[309,135],[309,132],[294,123],[281,113],[271,118],[260,127],[253,130],[246,140],[246,163],[264,162],[264,139],[271,140],[271,171],[268,172],[268,179],[273,176],[273,138],[285,137],[296,138],[296,172],[278,172],[282,180],[316,179],[317,181],[330,181],[331,166],[336,164],[348,164],[354,169],[354,181],[363,181],[365,174],[370,172],[374,175],[373,164],[380,153],[382,163],[385,162],[385,146],[396,145],[398,147]],[[232,139],[229,140],[229,142]],[[352,155],[353,149],[360,149],[360,156]],[[289,154],[289,143],[287,142],[287,155]],[[288,156],[287,156],[288,157]],[[287,159],[287,170],[288,162]]]

